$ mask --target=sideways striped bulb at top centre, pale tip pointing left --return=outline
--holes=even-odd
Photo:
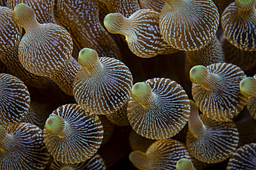
[[[159,13],[150,9],[137,10],[129,18],[120,13],[110,13],[104,18],[107,30],[124,35],[131,52],[141,58],[179,51],[163,41],[158,23]]]

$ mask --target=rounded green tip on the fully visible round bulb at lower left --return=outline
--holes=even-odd
[[[64,131],[65,123],[60,116],[51,116],[46,120],[46,132],[51,136],[59,136]]]

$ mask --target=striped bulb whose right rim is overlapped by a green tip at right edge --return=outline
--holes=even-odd
[[[190,70],[192,97],[200,111],[215,120],[230,120],[244,109],[248,97],[241,94],[246,74],[231,63],[196,65]]]

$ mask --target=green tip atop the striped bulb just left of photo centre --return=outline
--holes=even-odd
[[[92,63],[98,61],[98,53],[88,47],[84,47],[78,54],[78,63],[84,67],[89,67]]]

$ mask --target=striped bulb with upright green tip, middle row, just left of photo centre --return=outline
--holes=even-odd
[[[99,57],[90,48],[78,56],[82,66],[75,76],[73,94],[83,109],[95,114],[111,114],[125,105],[131,95],[133,78],[129,68],[109,57]]]

